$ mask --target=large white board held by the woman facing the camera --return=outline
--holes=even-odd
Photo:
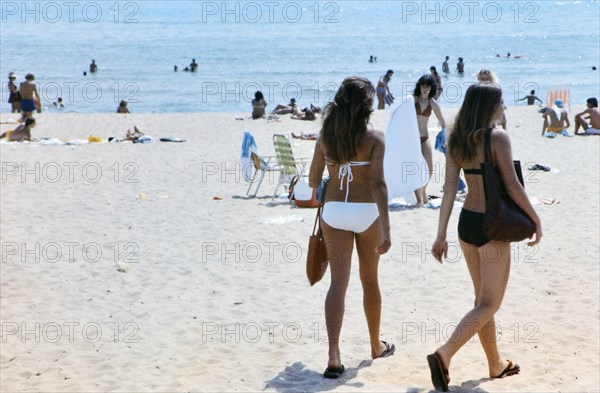
[[[414,97],[407,96],[396,108],[385,134],[383,162],[388,198],[415,204],[414,191],[429,181],[427,162],[421,153]]]

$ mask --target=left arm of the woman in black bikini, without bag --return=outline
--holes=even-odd
[[[439,262],[443,262],[442,257],[448,255],[448,242],[446,241],[446,231],[448,222],[454,207],[454,199],[458,190],[458,176],[460,166],[452,159],[450,154],[446,154],[446,180],[444,181],[444,196],[442,197],[442,206],[440,208],[440,218],[438,221],[438,233],[435,242],[431,248],[431,253]]]

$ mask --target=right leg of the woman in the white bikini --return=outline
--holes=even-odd
[[[356,234],[356,251],[360,264],[360,281],[363,287],[363,308],[367,317],[369,337],[371,342],[371,357],[381,356],[385,351],[385,344],[379,339],[379,326],[381,323],[381,292],[377,268],[379,254],[375,247],[381,243],[381,222],[379,218],[366,231]]]

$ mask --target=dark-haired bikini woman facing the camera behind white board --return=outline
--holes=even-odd
[[[427,162],[429,176],[433,173],[433,153],[431,151],[431,143],[429,142],[429,130],[427,123],[431,112],[435,113],[442,128],[446,128],[446,121],[442,116],[442,111],[435,101],[434,97],[437,92],[437,84],[431,75],[423,75],[417,81],[413,96],[415,97],[415,109],[417,111],[417,123],[419,124],[419,135],[421,137],[421,153]],[[427,185],[415,191],[417,198],[417,206],[422,206],[427,203]]]

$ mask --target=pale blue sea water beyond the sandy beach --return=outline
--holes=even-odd
[[[480,68],[505,101],[564,85],[572,103],[600,96],[598,1],[1,1],[2,113],[7,74],[36,76],[44,105],[69,112],[250,112],[256,90],[272,109],[329,101],[347,76],[393,69],[396,97],[450,56],[443,78],[458,106]],[[497,57],[523,56],[521,59]],[[369,56],[377,62],[369,63]],[[183,72],[195,58],[196,73]],[[92,59],[99,72],[83,75]],[[173,66],[179,71],[174,72]]]

